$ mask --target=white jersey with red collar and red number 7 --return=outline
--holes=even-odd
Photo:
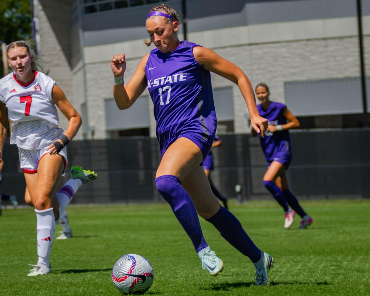
[[[0,79],[0,101],[13,121],[10,144],[23,149],[41,149],[63,135],[57,108],[51,98],[55,81],[35,71],[28,84],[11,73]]]

